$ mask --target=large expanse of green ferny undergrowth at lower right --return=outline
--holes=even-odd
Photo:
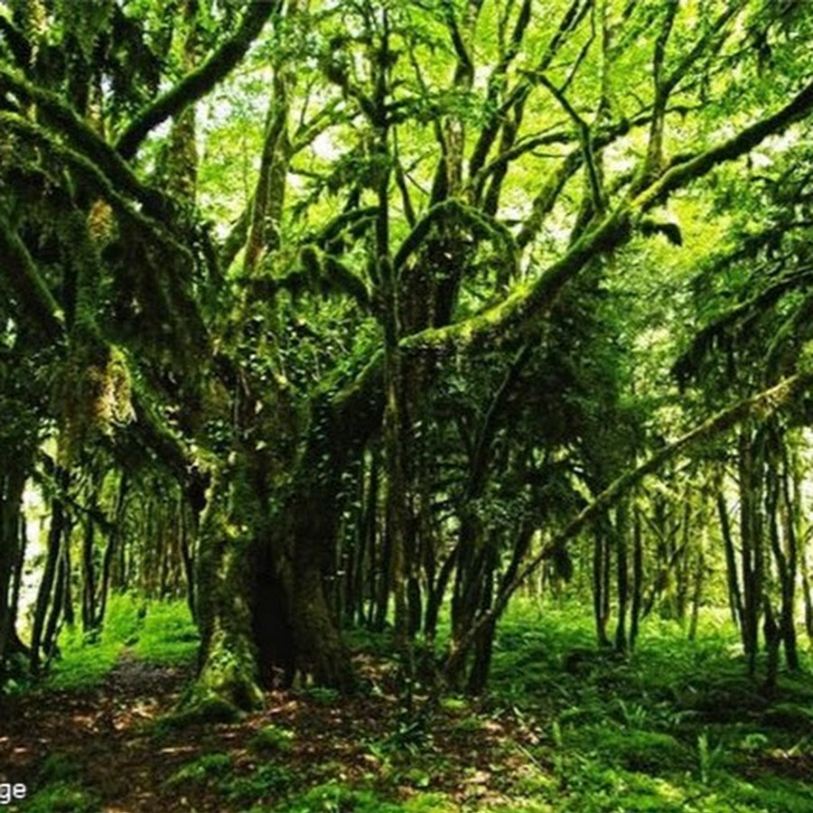
[[[619,656],[593,644],[584,610],[515,603],[495,646],[491,713],[530,732],[539,775],[517,790],[550,810],[801,813],[813,809],[807,652],[804,662],[766,693],[714,612],[696,640],[648,620]]]

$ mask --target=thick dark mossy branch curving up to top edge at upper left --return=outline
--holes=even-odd
[[[142,110],[118,137],[117,150],[125,159],[132,158],[138,147],[155,127],[181,113],[203,98],[229,74],[246,55],[268,18],[280,7],[279,0],[256,0],[246,4],[246,12],[234,36],[220,45],[199,68],[186,74],[177,85],[167,90]]]

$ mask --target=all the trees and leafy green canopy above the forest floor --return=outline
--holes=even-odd
[[[0,0],[0,685],[122,593],[188,603],[187,706],[349,696],[363,629],[417,715],[528,599],[573,668],[707,617],[804,673],[810,42],[807,0]]]

